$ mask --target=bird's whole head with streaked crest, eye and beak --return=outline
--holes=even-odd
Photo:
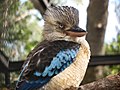
[[[79,12],[73,7],[51,7],[45,12],[44,20],[43,36],[47,40],[75,41],[87,33],[78,26]]]

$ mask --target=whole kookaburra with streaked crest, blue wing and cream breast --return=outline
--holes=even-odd
[[[87,31],[79,27],[79,11],[72,6],[53,6],[43,18],[44,39],[28,54],[16,90],[78,87],[90,59]]]

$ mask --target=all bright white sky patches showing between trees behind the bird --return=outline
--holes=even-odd
[[[27,0],[21,0],[22,2],[25,2]],[[87,6],[89,4],[89,0],[79,0],[82,1],[81,4],[76,4],[75,0],[67,0],[67,2],[63,5],[67,5],[67,6],[73,6],[75,8],[77,8],[79,10],[79,18],[80,18],[80,22],[79,22],[79,26],[83,29],[86,29],[86,9]],[[112,41],[113,38],[116,38],[117,35],[117,31],[116,31],[116,25],[118,24],[117,18],[116,18],[116,14],[115,14],[115,4],[114,4],[115,0],[109,0],[109,16],[108,16],[108,23],[107,23],[107,28],[106,28],[106,34],[105,34],[105,42],[106,43],[110,43]],[[38,11],[33,11],[33,13],[37,14],[40,16]],[[39,25],[43,25],[43,20],[40,21]]]

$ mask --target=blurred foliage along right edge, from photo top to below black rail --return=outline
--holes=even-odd
[[[118,19],[118,23],[120,25],[120,1],[115,0],[115,13]],[[115,55],[119,54],[120,55],[120,27],[116,25],[116,30],[118,31],[117,38],[113,39],[113,41],[109,44],[105,45],[106,48],[106,54],[109,55]],[[106,67],[106,75],[109,74],[117,74],[120,72],[120,65],[112,65]]]

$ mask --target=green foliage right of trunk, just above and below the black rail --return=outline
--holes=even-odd
[[[118,33],[117,38],[111,43],[106,44],[106,54],[108,55],[120,55],[120,33]],[[105,67],[105,75],[117,74],[120,72],[120,65],[112,65]]]

